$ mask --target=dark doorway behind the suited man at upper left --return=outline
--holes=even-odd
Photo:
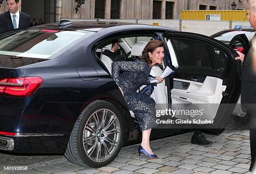
[[[21,0],[21,11],[30,15],[31,22],[41,18],[44,23],[56,22],[56,0]]]

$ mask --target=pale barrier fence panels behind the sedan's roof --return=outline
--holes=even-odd
[[[233,21],[233,20],[170,20],[170,19],[70,19],[61,18],[61,20],[70,21],[113,21],[113,22],[126,22],[126,23],[141,23],[148,25],[159,25],[177,30],[199,33],[203,35],[212,35],[222,30],[235,28],[236,25],[250,28],[248,21]]]

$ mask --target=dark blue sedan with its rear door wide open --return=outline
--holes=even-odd
[[[163,63],[152,67],[151,75],[160,76],[166,66],[174,73],[155,87],[156,103],[236,103],[240,93],[238,54],[205,35],[152,25],[61,21],[0,38],[2,151],[64,153],[74,164],[101,167],[121,146],[138,143],[137,119],[113,81],[113,61],[102,54],[113,40],[125,61],[137,60],[152,39],[165,43]],[[212,108],[216,128],[230,110]],[[181,132],[153,129],[151,139]]]

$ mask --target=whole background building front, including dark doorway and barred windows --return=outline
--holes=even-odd
[[[45,23],[53,23],[61,18],[178,19],[180,10],[231,10],[232,3],[236,3],[237,10],[248,10],[250,7],[250,0],[84,0],[76,13],[77,3],[74,0],[40,2],[42,5],[37,5],[35,0],[20,0],[20,10],[28,13],[31,20],[42,18]],[[3,1],[0,13],[5,10],[6,3]]]

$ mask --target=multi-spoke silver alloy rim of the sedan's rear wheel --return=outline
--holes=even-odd
[[[84,126],[84,151],[92,161],[106,161],[118,149],[120,136],[120,123],[115,113],[106,108],[99,109]]]

